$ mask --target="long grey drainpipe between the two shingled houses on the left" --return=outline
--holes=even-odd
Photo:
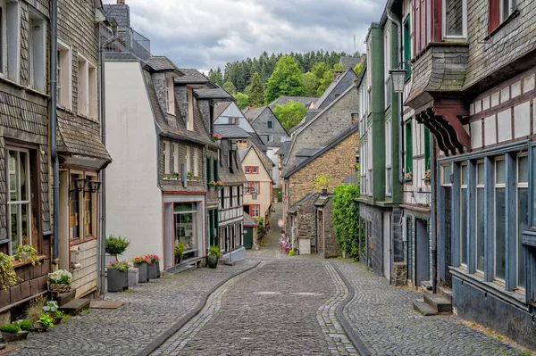
[[[60,165],[58,162],[58,149],[56,147],[56,136],[58,128],[58,112],[57,112],[57,88],[58,88],[58,1],[52,0],[51,3],[51,34],[50,34],[50,152],[52,153],[52,206],[53,206],[53,261],[57,261],[60,255]]]

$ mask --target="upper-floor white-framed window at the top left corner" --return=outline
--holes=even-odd
[[[21,3],[2,1],[2,57],[6,77],[18,83],[21,76]]]

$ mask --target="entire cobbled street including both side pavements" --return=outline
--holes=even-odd
[[[247,252],[246,261],[167,275],[128,293],[107,294],[125,304],[90,310],[48,333],[32,334],[11,354],[134,355],[154,345],[155,356],[357,355],[348,328],[363,354],[530,354],[455,316],[421,316],[412,307],[420,294],[389,286],[358,263],[280,253],[280,231],[273,228],[279,213],[273,214],[272,231],[260,251]],[[345,280],[354,290],[351,300]],[[158,342],[221,283],[197,315]]]

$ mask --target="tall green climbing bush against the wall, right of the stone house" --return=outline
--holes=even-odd
[[[333,227],[340,251],[359,260],[359,186],[341,185],[333,192]]]

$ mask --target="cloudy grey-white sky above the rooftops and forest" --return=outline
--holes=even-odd
[[[104,0],[115,4],[116,0]],[[320,49],[364,52],[385,0],[126,0],[151,52],[208,71],[226,62]]]

